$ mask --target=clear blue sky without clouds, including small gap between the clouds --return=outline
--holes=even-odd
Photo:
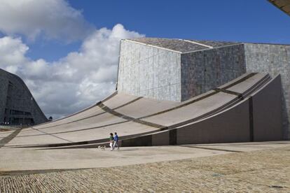
[[[150,37],[290,43],[290,17],[266,0],[70,0],[69,3],[82,10],[85,20],[97,28],[111,29],[120,23]],[[78,50],[80,44],[80,41],[31,43],[28,56],[53,61]]]

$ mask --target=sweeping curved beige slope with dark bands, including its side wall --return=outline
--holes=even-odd
[[[280,140],[279,80],[247,73],[184,102],[116,92],[69,117],[22,129],[5,146],[90,148],[115,131],[123,146]]]

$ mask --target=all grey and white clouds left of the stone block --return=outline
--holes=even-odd
[[[85,108],[115,89],[121,38],[141,36],[116,24],[95,29],[65,0],[1,0],[0,68],[25,80],[46,115],[60,117]],[[29,40],[82,40],[78,52],[55,62],[26,57]],[[41,38],[38,38],[41,37]]]

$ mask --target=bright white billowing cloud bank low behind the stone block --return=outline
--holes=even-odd
[[[122,24],[96,29],[84,39],[78,52],[55,62],[27,58],[29,47],[21,38],[5,36],[0,38],[0,68],[25,80],[47,116],[62,117],[115,90],[120,39],[140,36]]]

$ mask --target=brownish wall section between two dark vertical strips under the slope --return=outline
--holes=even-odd
[[[177,144],[249,141],[249,102],[177,129]]]

